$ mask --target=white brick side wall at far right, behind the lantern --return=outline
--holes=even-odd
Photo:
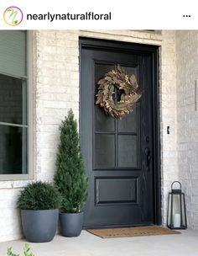
[[[189,227],[198,230],[198,109],[195,111],[197,30],[176,31],[176,67],[179,179],[187,196]]]

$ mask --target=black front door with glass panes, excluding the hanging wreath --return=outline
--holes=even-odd
[[[81,148],[89,176],[85,227],[157,222],[157,48],[81,40]],[[117,64],[138,79],[142,92],[122,119],[95,104],[96,83]]]

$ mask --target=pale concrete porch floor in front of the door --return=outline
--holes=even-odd
[[[8,247],[23,255],[25,240],[0,243],[0,255]],[[50,243],[29,243],[35,256],[197,256],[198,232],[182,231],[181,235],[102,239],[83,231],[80,237],[55,236]]]

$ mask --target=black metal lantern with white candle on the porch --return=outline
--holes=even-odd
[[[186,229],[186,211],[185,211],[185,194],[180,189],[174,189],[174,184],[180,184],[175,181],[171,184],[171,192],[169,192],[167,226],[170,229]]]

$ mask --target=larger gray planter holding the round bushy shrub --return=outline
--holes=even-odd
[[[59,210],[21,210],[23,234],[29,242],[46,243],[55,237]]]

